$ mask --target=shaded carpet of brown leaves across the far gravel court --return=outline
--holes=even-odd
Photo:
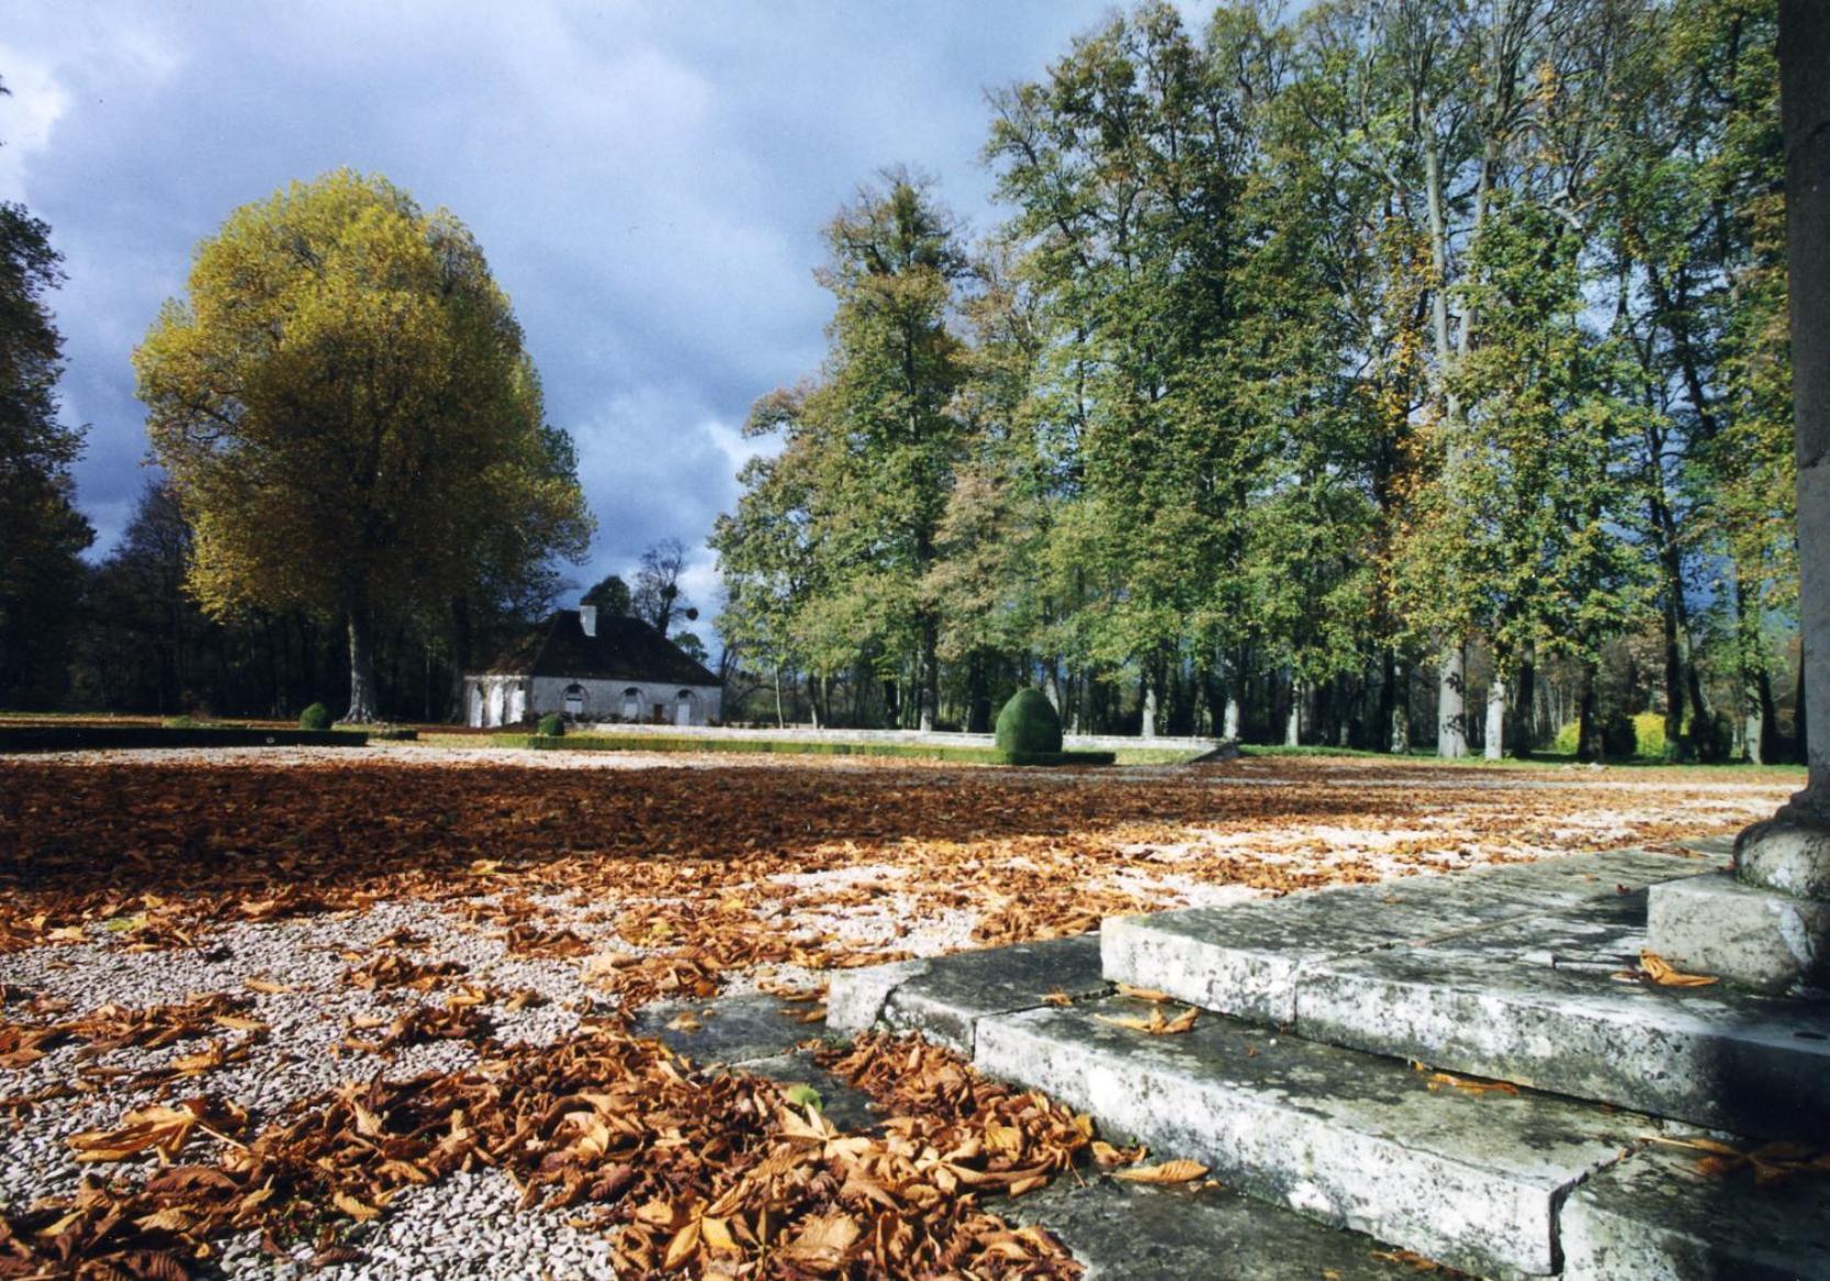
[[[1343,774],[1385,785],[1341,787]],[[891,891],[917,915],[974,913],[979,942],[1019,942],[1173,899],[1116,888],[1120,873],[1173,871],[1272,893],[1380,875],[1329,840],[1283,834],[1303,825],[1440,829],[1387,847],[1398,864],[1473,845],[1535,856],[1698,834],[1709,824],[1695,802],[1713,791],[1642,787],[1629,802],[1647,816],[1585,831],[1570,820],[1616,811],[1621,792],[1587,780],[1541,787],[1545,776],[1508,789],[1517,774],[1345,761],[1050,780],[781,765],[725,770],[716,787],[673,769],[465,767],[461,778],[454,787],[439,765],[373,761],[0,761],[0,950],[79,942],[99,928],[135,948],[190,946],[216,922],[498,893],[489,915],[511,930],[516,953],[586,955],[586,942],[534,902],[569,893],[580,906],[628,913],[615,919],[630,942],[697,948],[712,968],[831,966],[849,963],[855,944],[809,933],[809,915],[845,915]],[[1490,787],[1468,789],[1471,778]],[[1244,780],[1276,787],[1239,787]],[[1740,822],[1733,803],[1755,813],[1784,792],[1720,791],[1724,827]],[[1222,840],[1233,844],[1213,844]],[[1184,853],[1164,864],[1153,858],[1160,847]],[[769,884],[778,873],[860,866],[902,875]]]

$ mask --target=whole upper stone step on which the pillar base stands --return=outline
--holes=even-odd
[[[1596,855],[1105,922],[1111,979],[1330,1045],[1759,1136],[1830,1135],[1830,1003],[1621,981],[1643,886]]]

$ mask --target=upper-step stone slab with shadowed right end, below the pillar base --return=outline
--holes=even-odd
[[[1645,893],[1310,966],[1301,1036],[1742,1135],[1830,1138],[1830,1001],[1621,983]]]

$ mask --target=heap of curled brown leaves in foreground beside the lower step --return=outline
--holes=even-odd
[[[366,1222],[408,1188],[489,1168],[520,1182],[523,1206],[619,1228],[631,1277],[1078,1276],[1047,1233],[1010,1228],[981,1199],[1082,1162],[1091,1122],[944,1050],[866,1038],[827,1056],[886,1111],[869,1133],[847,1135],[772,1082],[688,1071],[609,1025],[556,1047],[481,1049],[474,1069],[350,1085],[253,1136],[209,1098],[81,1135],[84,1160],[150,1151],[161,1168],[88,1179],[73,1197],[0,1221],[0,1277],[165,1281],[205,1266],[214,1243],[242,1230],[274,1252],[304,1237],[324,1261],[350,1259],[324,1211]],[[216,1153],[190,1155],[198,1138],[216,1140]]]

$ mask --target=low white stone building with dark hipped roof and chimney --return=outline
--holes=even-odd
[[[705,664],[640,619],[560,609],[463,679],[465,723],[520,725],[558,712],[575,723],[714,725],[723,688]]]

